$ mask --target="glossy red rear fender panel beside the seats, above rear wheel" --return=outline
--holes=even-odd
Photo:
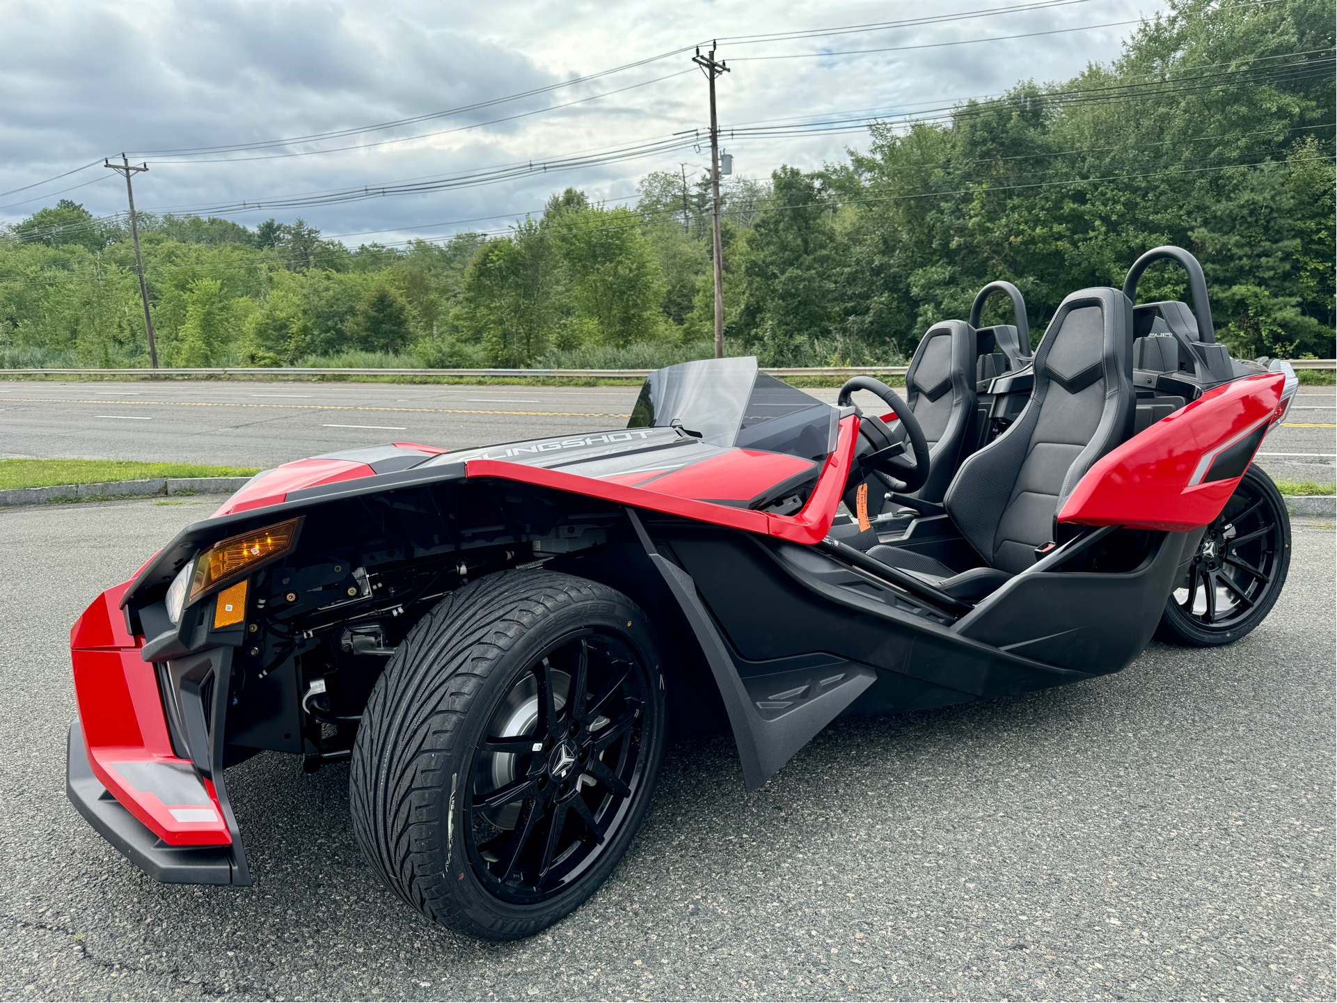
[[[1095,463],[1060,523],[1186,532],[1225,508],[1239,477],[1190,484],[1203,455],[1258,421],[1277,420],[1285,377],[1261,373],[1209,391]]]

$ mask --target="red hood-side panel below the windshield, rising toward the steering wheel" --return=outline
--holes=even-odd
[[[747,532],[781,536],[786,540],[793,540],[794,543],[812,544],[826,536],[826,532],[830,530],[832,520],[836,518],[836,503],[845,487],[845,477],[849,475],[849,465],[854,456],[854,443],[857,435],[857,417],[850,416],[841,421],[836,452],[826,457],[826,464],[818,476],[817,487],[813,488],[813,492],[808,499],[808,504],[801,512],[793,516],[771,515],[769,512],[757,512],[750,508],[735,508],[733,506],[719,506],[713,502],[701,502],[697,497],[687,496],[689,489],[693,493],[701,491],[709,497],[727,497],[727,495],[715,493],[721,491],[721,488],[718,484],[711,484],[709,480],[685,477],[682,481],[674,483],[671,480],[674,475],[655,477],[654,471],[636,475],[642,487],[619,483],[620,480],[624,480],[627,475],[603,479],[584,477],[578,473],[566,473],[563,471],[545,469],[543,467],[531,467],[528,464],[513,463],[511,460],[469,460],[465,464],[465,472],[469,477],[503,477],[505,480],[519,480],[525,484],[540,484],[559,491],[570,491],[576,495],[602,497],[620,506],[648,508],[654,512],[681,515],[703,523],[729,526],[735,530],[746,530]],[[742,453],[753,457],[779,456],[778,453],[757,453],[753,451],[739,449],[738,453],[730,453],[730,456],[721,459],[727,460],[729,464],[742,468],[746,465],[739,461],[739,455]],[[806,463],[805,460],[798,460],[797,457],[783,459],[793,460],[800,464],[798,467],[794,467],[796,471],[802,469],[801,464]],[[746,475],[739,471],[730,471],[729,464],[714,467],[717,476],[727,477],[727,480],[723,481],[727,484],[742,483]],[[777,469],[771,465],[770,459],[761,461],[758,469],[762,468],[762,464],[765,464],[765,468],[769,472],[767,476],[771,476]],[[702,463],[682,471],[682,473],[695,473],[697,471],[710,467],[713,467],[711,463]],[[729,471],[729,473],[726,475],[723,471]],[[786,475],[781,475],[779,479],[783,476]],[[648,483],[646,479],[650,479]],[[769,480],[769,484],[774,484],[777,480],[778,479],[771,479]],[[753,492],[753,495],[765,489],[767,485],[758,488]],[[747,495],[747,497],[751,497],[753,495]]]

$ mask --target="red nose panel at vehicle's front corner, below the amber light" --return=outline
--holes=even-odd
[[[140,638],[126,630],[120,598],[130,582],[99,595],[70,631],[75,695],[94,776],[148,829],[174,847],[231,843],[214,788],[195,778],[191,804],[166,804],[136,789],[123,772],[167,770],[195,777],[194,766],[171,748],[154,666],[139,654]],[[147,766],[146,766],[147,764]],[[176,786],[183,786],[178,784]],[[185,786],[191,786],[189,782]],[[182,821],[211,816],[211,821]]]

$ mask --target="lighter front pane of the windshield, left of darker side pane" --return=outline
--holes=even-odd
[[[703,358],[646,377],[627,428],[667,428],[674,419],[714,445],[733,445],[757,380],[757,358]]]

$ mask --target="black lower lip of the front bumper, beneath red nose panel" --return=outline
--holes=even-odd
[[[155,881],[166,884],[241,884],[241,868],[229,847],[172,847],[148,830],[94,776],[83,729],[70,725],[66,746],[66,794],[103,839]]]

